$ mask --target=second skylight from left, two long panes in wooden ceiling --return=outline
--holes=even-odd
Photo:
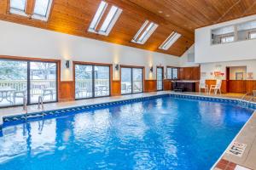
[[[104,36],[108,36],[109,32],[112,30],[115,22],[119,19],[119,15],[122,13],[122,9],[116,6],[112,6],[103,21],[102,26],[100,29],[97,29],[100,21],[102,20],[102,16],[105,13],[106,9],[108,8],[108,3],[102,1],[96,11],[96,14],[93,20],[90,23],[90,27],[88,31],[98,33]]]

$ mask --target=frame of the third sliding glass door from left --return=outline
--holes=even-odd
[[[131,69],[131,93],[127,93],[127,94],[142,94],[144,93],[144,81],[145,81],[145,67],[144,66],[136,66],[136,65],[120,65],[119,67],[119,77],[120,77],[120,83],[122,83],[122,68],[129,68]],[[143,80],[142,80],[142,83],[143,83],[143,90],[142,92],[137,92],[137,93],[134,93],[133,92],[133,69],[142,69],[142,73],[143,73]],[[122,89],[120,89],[120,94],[121,95],[127,95],[127,94],[122,94]]]

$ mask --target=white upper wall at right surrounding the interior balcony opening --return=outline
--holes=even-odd
[[[230,42],[225,44],[211,44],[211,30],[230,26],[248,20],[256,20],[256,15],[244,17],[238,20],[217,25],[207,26],[195,30],[195,62],[222,62],[235,61],[241,59],[256,59],[256,40],[247,40],[241,42]]]

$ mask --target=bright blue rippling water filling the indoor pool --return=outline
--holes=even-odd
[[[4,127],[0,169],[209,169],[252,112],[163,97]]]

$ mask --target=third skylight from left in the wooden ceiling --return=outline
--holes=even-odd
[[[157,27],[158,25],[154,22],[149,22],[148,20],[146,20],[140,30],[137,31],[137,34],[135,35],[135,37],[133,37],[131,42],[144,44],[145,42],[147,42],[148,38]]]

